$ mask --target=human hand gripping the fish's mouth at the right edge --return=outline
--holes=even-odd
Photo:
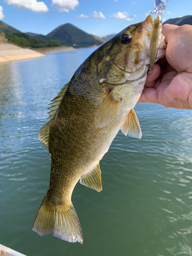
[[[151,102],[166,108],[192,109],[192,26],[165,24],[166,58],[148,71],[139,102]]]

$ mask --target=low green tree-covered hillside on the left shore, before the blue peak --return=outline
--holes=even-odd
[[[22,33],[20,31],[14,33],[6,32],[5,35],[10,44],[14,44],[20,47],[41,48],[61,46],[60,42],[57,40],[50,40],[49,42],[46,42],[35,37],[29,37],[28,34]]]

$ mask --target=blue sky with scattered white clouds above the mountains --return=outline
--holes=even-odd
[[[155,0],[0,0],[0,19],[22,31],[47,35],[71,23],[98,36],[140,22]],[[163,19],[192,15],[192,0],[169,0]]]

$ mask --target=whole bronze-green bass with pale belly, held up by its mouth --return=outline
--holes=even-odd
[[[152,16],[105,42],[77,69],[51,103],[50,121],[39,139],[51,159],[47,194],[33,224],[40,236],[83,242],[71,202],[76,183],[101,191],[99,161],[119,129],[141,138],[134,106],[146,80]],[[159,50],[158,57],[165,54]]]

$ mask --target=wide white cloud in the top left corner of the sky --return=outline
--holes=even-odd
[[[28,9],[33,12],[48,12],[49,9],[44,2],[36,0],[4,0],[8,5],[13,5],[17,9]]]

